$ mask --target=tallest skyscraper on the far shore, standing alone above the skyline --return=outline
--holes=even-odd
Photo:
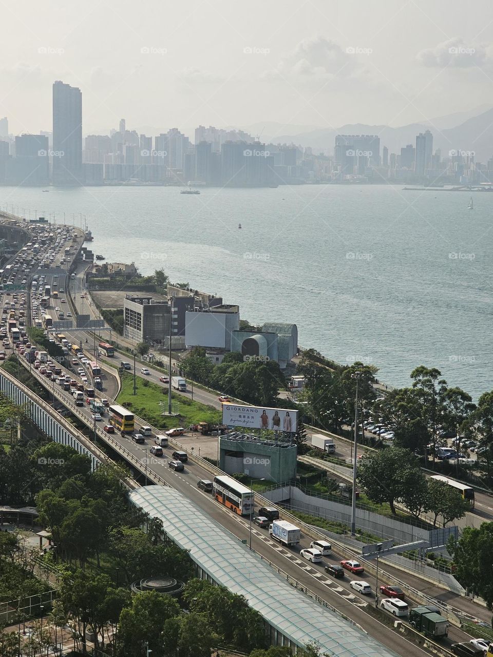
[[[53,84],[53,183],[82,185],[82,93]]]

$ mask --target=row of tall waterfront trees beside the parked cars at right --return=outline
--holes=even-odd
[[[434,458],[436,447],[453,437],[458,453],[463,441],[479,446],[479,468],[493,480],[493,391],[485,392],[476,403],[469,393],[448,386],[440,371],[420,365],[410,374],[411,385],[387,391],[376,400],[373,384],[377,368],[364,363],[348,367],[335,365],[315,350],[303,352],[298,371],[305,376],[305,388],[298,397],[300,411],[308,408],[312,421],[339,433],[354,421],[356,371],[360,373],[359,417],[371,415],[394,430],[394,443],[414,453]],[[365,440],[364,429],[362,438]],[[459,464],[456,464],[459,471]]]

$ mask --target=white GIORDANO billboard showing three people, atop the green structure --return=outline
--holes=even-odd
[[[223,404],[223,424],[294,433],[298,428],[298,411],[226,403]]]

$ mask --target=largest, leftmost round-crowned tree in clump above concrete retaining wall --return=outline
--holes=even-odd
[[[394,503],[410,495],[409,487],[419,482],[421,470],[413,454],[403,447],[386,447],[360,459],[358,482],[369,499],[377,504],[388,502],[392,513]]]

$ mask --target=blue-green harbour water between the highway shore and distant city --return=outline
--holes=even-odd
[[[303,347],[373,363],[388,384],[423,364],[475,398],[493,389],[493,193],[467,210],[469,192],[390,185],[179,192],[0,187],[0,207],[85,217],[108,261],[164,267],[252,323],[296,323]]]

